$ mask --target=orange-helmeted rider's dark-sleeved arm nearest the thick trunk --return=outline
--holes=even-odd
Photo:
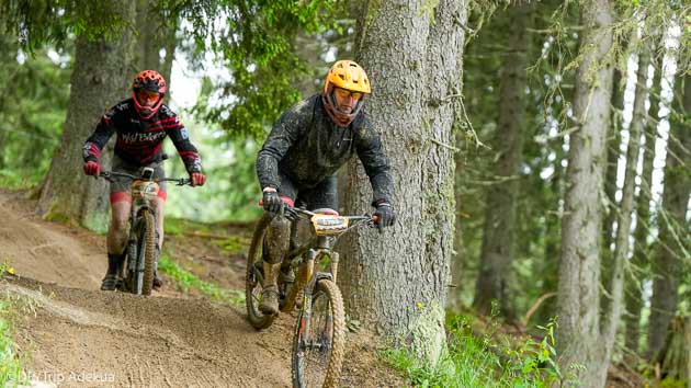
[[[370,176],[372,184],[372,205],[392,203],[394,193],[394,180],[392,179],[390,164],[380,135],[374,132],[370,121],[365,117],[353,123],[355,126],[355,149],[358,157]]]

